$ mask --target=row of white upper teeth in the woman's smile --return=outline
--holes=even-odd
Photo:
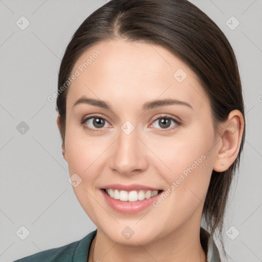
[[[138,200],[149,199],[155,197],[159,193],[158,190],[133,190],[125,191],[118,189],[105,189],[106,193],[110,195],[111,198],[118,199],[121,201],[135,202]]]

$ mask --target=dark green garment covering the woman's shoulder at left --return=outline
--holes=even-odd
[[[15,260],[14,262],[86,262],[91,243],[96,236],[96,233],[97,229],[79,241],[72,242],[62,247],[41,251],[33,255]]]

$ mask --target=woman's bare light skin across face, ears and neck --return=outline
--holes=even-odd
[[[101,54],[68,90],[62,144],[70,176],[77,173],[82,179],[73,187],[76,197],[97,226],[88,261],[93,256],[93,261],[108,262],[206,261],[199,234],[203,204],[212,170],[226,170],[237,157],[244,126],[241,112],[232,111],[215,137],[209,99],[198,77],[165,48],[142,41],[100,42],[82,54],[72,72],[97,49]],[[178,69],[187,74],[181,83],[173,77]],[[83,95],[107,102],[112,111],[84,103],[73,106]],[[142,109],[145,102],[165,98],[185,101],[193,108]],[[94,126],[93,119],[79,124],[91,114],[104,118],[104,127]],[[171,120],[166,129],[176,128],[165,132],[158,122],[163,114],[180,118],[183,124]],[[121,129],[127,120],[135,127],[129,135]],[[59,116],[57,125],[60,130]],[[108,206],[100,191],[112,183],[138,183],[165,191],[203,154],[205,160],[158,207],[123,214]],[[121,234],[126,226],[134,231],[129,239]]]

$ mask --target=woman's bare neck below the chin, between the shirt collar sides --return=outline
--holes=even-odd
[[[158,262],[206,262],[206,254],[200,243],[200,228],[181,227],[146,245],[128,246],[112,241],[97,229],[92,242],[89,262],[97,261]]]

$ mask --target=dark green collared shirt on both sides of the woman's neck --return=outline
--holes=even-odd
[[[96,233],[97,229],[79,241],[62,247],[38,252],[36,254],[15,260],[14,262],[87,262],[90,247]],[[203,228],[200,230],[200,240],[201,245],[207,254],[207,262],[221,262],[219,251],[213,241],[213,238],[209,237],[209,233]]]

